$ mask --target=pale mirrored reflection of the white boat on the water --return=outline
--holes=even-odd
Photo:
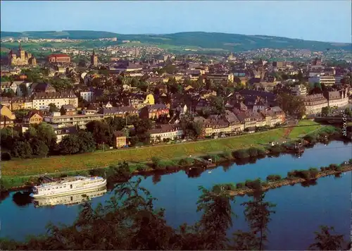
[[[39,199],[34,199],[34,207],[54,207],[59,204],[64,204],[66,206],[73,206],[75,204],[82,204],[85,198],[92,199],[95,197],[101,197],[106,193],[106,188],[97,188],[92,192],[80,192],[74,195],[59,195],[57,197],[42,197]]]

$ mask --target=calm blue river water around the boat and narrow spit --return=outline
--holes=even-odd
[[[294,169],[340,164],[352,158],[352,144],[331,142],[329,145],[315,145],[306,149],[300,158],[289,154],[280,157],[258,159],[254,164],[218,166],[205,171],[196,178],[189,178],[184,171],[163,176],[149,176],[142,181],[142,186],[158,198],[157,207],[165,208],[168,224],[177,227],[187,222],[199,220],[201,213],[196,212],[196,201],[200,195],[199,185],[211,188],[217,183],[237,183],[247,179],[265,179],[269,174],[286,176]],[[275,214],[268,225],[268,249],[270,250],[305,250],[314,241],[314,231],[320,225],[334,226],[338,233],[349,238],[351,219],[351,172],[341,178],[320,178],[316,185],[303,187],[300,184],[287,186],[266,192],[265,200],[274,204]],[[137,177],[132,178],[132,180]],[[34,208],[33,204],[19,207],[13,202],[13,194],[0,204],[1,231],[0,237],[25,240],[26,235],[45,233],[46,224],[72,223],[79,206],[57,205],[54,207]],[[94,205],[105,202],[113,192],[92,199]],[[234,218],[234,226],[246,231],[248,226],[244,219],[244,207],[240,204],[249,197],[237,197],[232,209],[238,215]]]

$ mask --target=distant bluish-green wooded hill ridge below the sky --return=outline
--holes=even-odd
[[[201,47],[207,49],[226,49],[244,51],[249,49],[311,49],[325,51],[326,49],[345,49],[351,51],[351,44],[318,42],[287,37],[272,37],[265,35],[238,35],[216,32],[180,32],[164,35],[122,35],[113,32],[89,30],[64,30],[61,32],[1,32],[4,37],[38,38],[69,38],[98,39],[102,37],[118,37],[119,41],[132,40],[146,44],[165,44],[170,47]]]

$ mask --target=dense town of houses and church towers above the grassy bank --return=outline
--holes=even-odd
[[[28,54],[21,46],[18,51]],[[285,125],[287,116],[318,116],[325,107],[351,103],[351,66],[331,66],[318,57],[297,63],[152,50],[149,60],[135,54],[101,63],[93,51],[82,66],[68,54],[15,64],[12,53],[4,66],[13,70],[1,70],[1,106],[11,111],[1,114],[1,128],[25,133],[47,123],[58,144],[89,130],[89,123],[117,118],[123,125],[104,143],[135,147],[255,133]],[[147,122],[139,137],[141,121]]]

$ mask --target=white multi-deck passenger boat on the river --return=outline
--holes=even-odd
[[[61,178],[49,183],[42,183],[32,188],[30,197],[57,197],[60,195],[74,195],[81,192],[89,192],[106,186],[106,179],[102,177],[74,176]]]

